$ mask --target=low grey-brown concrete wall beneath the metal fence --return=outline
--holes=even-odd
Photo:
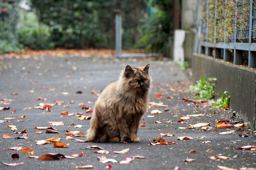
[[[256,122],[256,72],[249,68],[242,68],[227,64],[223,60],[208,57],[203,54],[194,54],[192,57],[193,80],[216,77],[215,91],[230,93],[230,108],[239,112],[239,115],[249,126],[255,127]]]

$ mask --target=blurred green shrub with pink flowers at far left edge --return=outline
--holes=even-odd
[[[18,2],[19,0],[0,1],[0,54],[20,51],[21,46],[15,32]]]

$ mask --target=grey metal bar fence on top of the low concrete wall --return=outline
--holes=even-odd
[[[256,68],[256,0],[201,0],[199,53]]]

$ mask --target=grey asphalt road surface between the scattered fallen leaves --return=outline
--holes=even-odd
[[[86,133],[90,126],[89,120],[78,120],[76,116],[61,116],[60,113],[68,111],[69,113],[83,113],[79,103],[84,102],[90,108],[97,99],[95,94],[101,93],[102,89],[109,82],[115,81],[120,74],[122,68],[126,65],[143,66],[150,63],[151,77],[153,79],[153,88],[151,91],[151,101],[163,102],[168,105],[169,111],[163,111],[166,108],[154,108],[163,111],[159,114],[151,114],[148,110],[141,120],[141,124],[145,123],[145,127],[139,127],[138,136],[140,142],[137,143],[81,143],[73,140],[65,140],[65,130],[78,130]],[[219,120],[232,120],[232,113],[223,111],[213,111],[209,108],[195,108],[188,102],[182,102],[182,98],[186,96],[192,97],[192,94],[187,93],[189,86],[189,77],[175,63],[164,61],[153,61],[143,59],[104,59],[99,57],[34,57],[30,59],[6,59],[2,61],[0,66],[0,98],[13,99],[10,105],[0,105],[0,107],[10,107],[9,110],[0,111],[0,120],[7,117],[19,117],[25,115],[23,119],[13,119],[10,122],[0,123],[0,134],[9,133],[12,138],[0,138],[0,161],[5,163],[24,162],[24,164],[16,167],[8,167],[0,164],[0,169],[17,169],[17,170],[73,170],[75,164],[77,166],[93,165],[96,169],[105,169],[108,163],[97,161],[98,156],[95,149],[82,150],[90,145],[99,145],[105,150],[123,150],[131,148],[126,154],[114,154],[113,151],[107,155],[107,158],[122,161],[127,157],[140,155],[145,156],[145,159],[135,159],[130,164],[111,163],[113,169],[122,170],[153,170],[153,169],[170,169],[175,166],[180,167],[180,170],[217,170],[217,165],[241,168],[241,167],[256,167],[256,151],[238,150],[239,147],[245,145],[256,145],[256,137],[250,135],[247,138],[241,138],[236,132],[230,135],[221,135],[219,132],[227,131],[227,129],[217,129],[206,131],[201,128],[194,129],[178,129],[178,127],[188,127],[188,123],[196,124],[199,122],[211,123],[210,127]],[[33,93],[30,93],[30,92]],[[76,94],[81,91],[82,94]],[[18,95],[11,95],[11,93]],[[68,92],[68,94],[64,93]],[[92,94],[94,92],[94,94]],[[163,94],[163,98],[155,98],[154,95]],[[167,99],[172,96],[173,99]],[[36,100],[38,97],[46,98],[47,101]],[[55,100],[64,101],[64,105],[71,107],[64,108],[64,105],[54,105],[50,113],[41,109],[27,109],[27,107],[35,107],[40,102],[53,103]],[[74,100],[74,103],[70,101]],[[16,113],[10,113],[16,110]],[[185,120],[185,123],[177,123],[180,116],[188,114],[199,114],[202,116],[191,117]],[[153,118],[147,116],[154,116]],[[238,120],[238,118],[236,118]],[[17,122],[17,120],[24,120]],[[173,123],[160,123],[171,121]],[[48,121],[64,121],[63,126],[54,126],[59,133],[42,133],[37,134],[34,127],[47,127]],[[74,125],[82,125],[81,128],[74,128]],[[29,139],[15,139],[22,134],[14,134],[7,125],[17,126],[17,131],[20,132],[23,128],[26,129]],[[217,131],[215,131],[217,129]],[[238,128],[230,128],[237,130]],[[246,129],[246,128],[245,128]],[[42,130],[45,131],[45,130]],[[148,145],[148,139],[160,137],[160,133],[172,133],[175,136],[163,137],[166,141],[176,142],[177,144],[169,145]],[[190,136],[190,140],[177,140],[177,136]],[[206,139],[197,140],[198,136],[206,136]],[[69,143],[69,147],[57,148],[53,144],[35,145],[35,140],[44,140],[49,138],[62,138],[63,143]],[[74,137],[75,139],[86,140],[85,137]],[[211,141],[211,143],[202,143],[203,141]],[[23,148],[30,147],[35,150],[36,156],[42,156],[47,153],[61,153],[64,155],[72,155],[81,153],[84,156],[76,159],[66,159],[61,161],[42,161],[38,159],[28,158],[23,152],[16,150],[8,150],[8,147],[22,146]],[[196,153],[189,153],[190,150],[195,150]],[[19,160],[12,160],[11,155],[18,153]],[[85,156],[90,155],[90,156]],[[211,160],[208,156],[228,156],[231,159],[227,160]],[[233,158],[238,155],[239,157]],[[184,162],[185,159],[196,159],[193,162]]]

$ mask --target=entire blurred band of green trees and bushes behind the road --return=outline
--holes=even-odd
[[[0,54],[24,49],[122,48],[166,54],[173,41],[173,0],[0,0]]]

